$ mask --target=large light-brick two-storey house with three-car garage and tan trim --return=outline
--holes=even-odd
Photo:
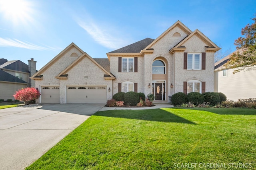
[[[106,103],[117,92],[155,94],[214,91],[214,53],[220,48],[198,29],[177,21],[146,38],[93,59],[74,43],[32,76],[42,103]]]

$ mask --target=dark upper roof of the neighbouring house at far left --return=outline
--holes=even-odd
[[[22,71],[22,72],[29,72],[28,64],[25,64],[20,60],[6,61],[2,65],[0,65],[0,68],[5,68],[5,69],[15,70],[15,71]]]

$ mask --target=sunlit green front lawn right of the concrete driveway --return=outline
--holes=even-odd
[[[155,170],[188,166],[256,169],[256,109],[100,111],[27,169]]]

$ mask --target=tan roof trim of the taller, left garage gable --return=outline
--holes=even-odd
[[[30,78],[35,78],[37,76],[40,76],[40,74],[42,74],[46,69],[48,69],[53,63],[55,63],[56,61],[58,61],[58,59],[60,59],[60,57],[62,57],[66,51],[68,51],[70,48],[75,47],[76,49],[78,49],[81,53],[84,53],[84,51],[82,51],[82,49],[80,49],[75,43],[71,43],[70,45],[68,45],[68,47],[66,47],[64,50],[62,50],[58,55],[56,55],[56,57],[54,57],[51,61],[49,61],[46,65],[44,65],[40,70],[38,70],[38,72],[36,72],[33,76],[31,76]]]

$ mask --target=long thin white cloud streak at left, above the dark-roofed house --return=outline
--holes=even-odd
[[[10,38],[1,38],[0,37],[0,47],[18,47],[18,48],[24,48],[24,49],[30,49],[30,50],[55,50],[52,47],[42,47],[39,45],[34,45],[32,43],[28,42],[22,42],[18,39],[10,39]]]

